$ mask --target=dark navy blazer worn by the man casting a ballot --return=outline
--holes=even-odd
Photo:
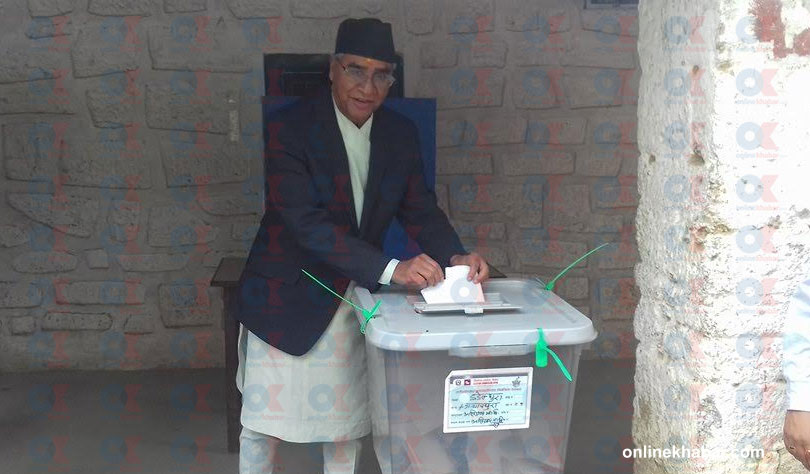
[[[467,252],[425,185],[409,119],[385,106],[374,113],[358,227],[331,91],[294,102],[278,117],[266,125],[267,202],[240,279],[238,319],[270,345],[300,356],[340,304],[301,269],[341,295],[350,280],[376,291],[390,261],[382,243],[395,216],[442,268]]]

